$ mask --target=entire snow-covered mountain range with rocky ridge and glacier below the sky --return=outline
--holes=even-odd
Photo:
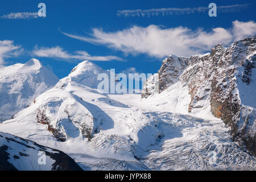
[[[0,169],[255,170],[255,55],[251,37],[168,56],[141,94],[101,92],[90,61],[61,80],[36,59],[0,68]]]

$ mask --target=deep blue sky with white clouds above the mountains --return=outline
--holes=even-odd
[[[46,18],[9,19],[4,16],[35,13],[40,2],[46,4]],[[183,14],[172,11],[174,14],[167,15],[151,10],[144,16],[141,13],[139,16],[117,15],[122,10],[208,7],[211,2],[217,5],[217,17],[208,16],[208,10],[201,13],[188,10]],[[230,5],[245,6],[232,8]],[[218,11],[221,6],[224,7]],[[10,51],[0,45],[0,56],[3,65],[25,63],[35,57],[59,78],[67,76],[86,56],[104,69],[115,68],[116,73],[131,67],[138,72],[155,73],[166,55],[204,53],[217,42],[228,45],[243,36],[255,35],[255,7],[255,1],[249,0],[3,0],[0,2],[0,41],[13,42],[2,43],[9,46]],[[213,31],[213,28],[218,29]],[[56,56],[56,52],[62,56]]]

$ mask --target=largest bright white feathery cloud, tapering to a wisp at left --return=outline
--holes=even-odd
[[[203,29],[192,31],[187,27],[162,28],[150,25],[148,27],[133,26],[122,31],[104,32],[94,28],[91,37],[64,33],[70,38],[79,39],[93,44],[104,44],[109,48],[125,53],[146,53],[154,57],[170,54],[190,56],[210,51],[216,44],[228,46],[235,40],[256,34],[255,22],[234,21],[233,27],[213,28],[207,32]]]

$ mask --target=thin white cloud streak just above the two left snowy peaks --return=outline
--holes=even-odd
[[[118,60],[123,61],[120,57],[117,56],[91,56],[89,53],[85,51],[76,51],[75,53],[68,53],[64,51],[63,48],[56,47],[42,47],[38,48],[37,46],[32,51],[32,54],[39,57],[53,57],[53,58],[61,58],[67,61],[71,60],[91,60],[91,61],[111,61]]]

